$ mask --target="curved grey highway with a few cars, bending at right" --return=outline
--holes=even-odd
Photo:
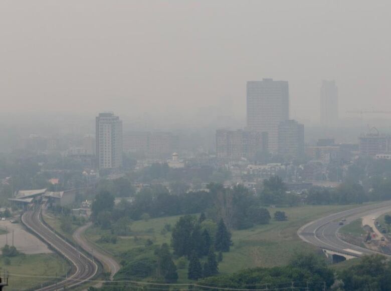
[[[388,211],[391,211],[391,201],[344,210],[305,224],[300,227],[297,234],[302,240],[324,249],[353,256],[374,254],[377,252],[340,239],[338,230],[343,225],[339,225],[339,221],[343,217],[346,218],[344,222],[344,225],[346,225],[360,217],[367,215],[377,217]]]

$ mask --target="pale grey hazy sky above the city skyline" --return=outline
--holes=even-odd
[[[322,79],[341,115],[391,110],[389,1],[0,1],[0,113],[175,116],[232,104],[246,81],[290,86],[317,121]],[[231,100],[225,102],[225,100]],[[179,115],[178,115],[179,116]]]

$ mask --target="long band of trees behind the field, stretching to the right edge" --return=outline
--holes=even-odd
[[[360,184],[345,182],[336,188],[312,187],[301,193],[288,192],[278,176],[264,180],[262,185],[251,190],[242,185],[224,187],[211,183],[208,191],[181,192],[178,189],[183,188],[179,186],[170,192],[163,185],[156,184],[143,188],[133,196],[132,202],[123,199],[114,206],[114,196],[134,193],[129,181],[119,179],[100,184],[98,189],[101,191],[92,205],[92,217],[102,228],[118,229],[115,231],[118,235],[130,233],[125,225],[131,220],[201,212],[215,222],[222,218],[229,229],[246,229],[269,223],[271,215],[263,206],[352,204],[391,199],[391,182],[387,179],[374,183],[369,190]]]

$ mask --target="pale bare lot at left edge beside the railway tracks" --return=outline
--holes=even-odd
[[[14,245],[19,251],[26,254],[52,252],[45,243],[28,232],[21,223],[0,220],[0,228],[8,231],[7,234],[0,235],[0,247],[6,245],[7,242],[9,245],[12,245],[12,232],[14,230]]]

